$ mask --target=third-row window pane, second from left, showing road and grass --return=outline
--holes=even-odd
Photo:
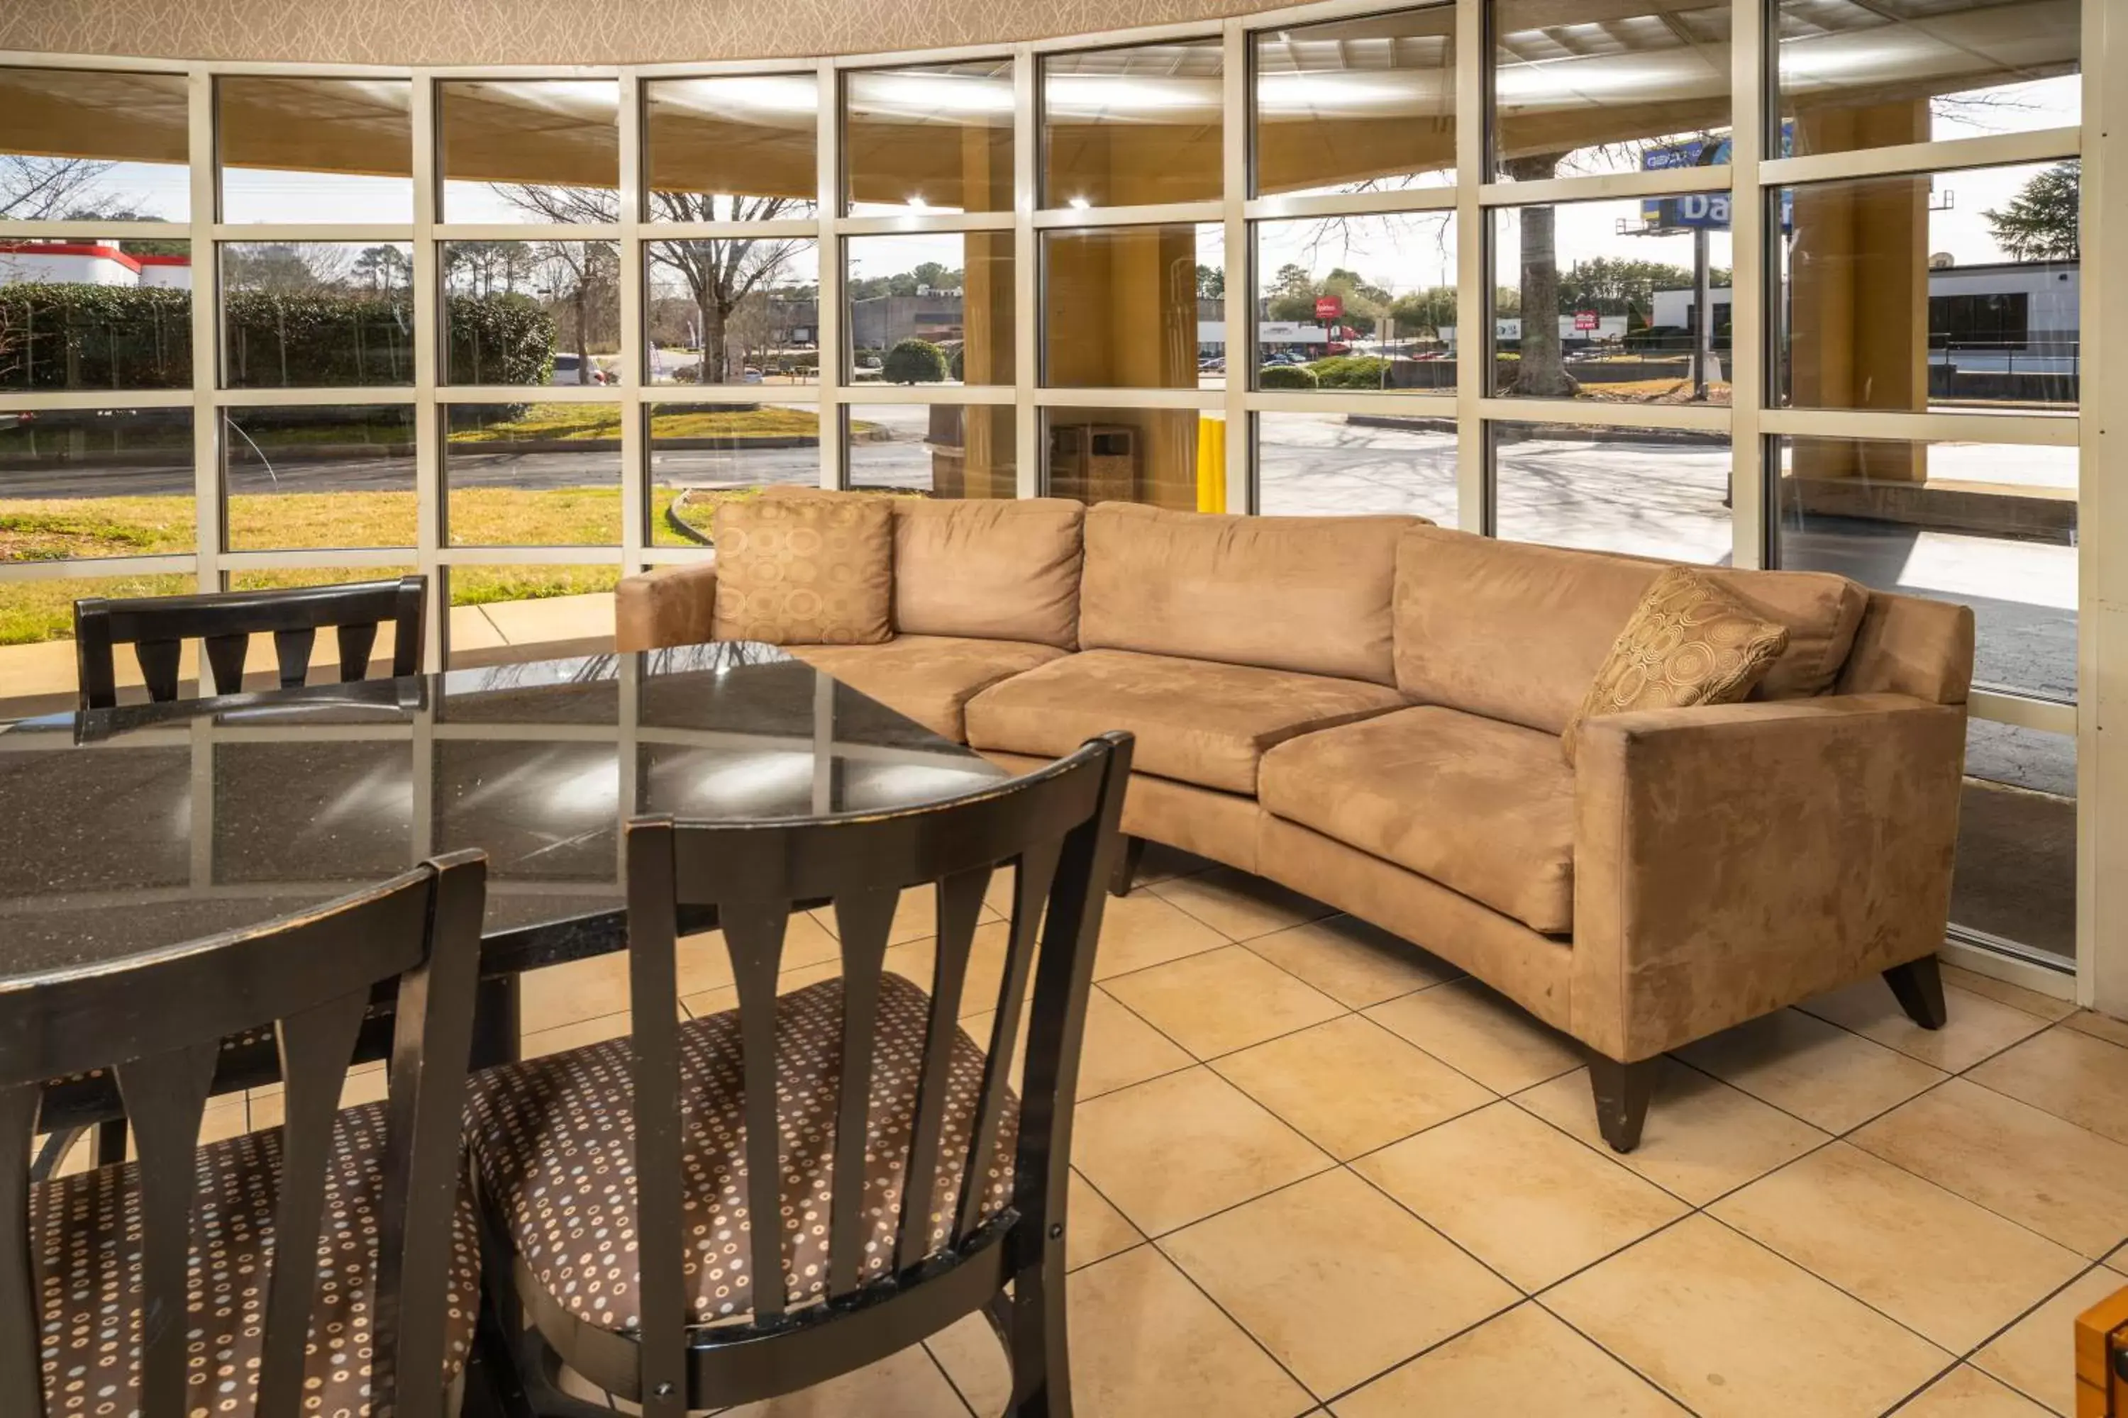
[[[413,546],[413,408],[230,408],[230,551]]]

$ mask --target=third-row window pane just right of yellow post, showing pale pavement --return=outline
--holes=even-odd
[[[1456,517],[1456,421],[1402,415],[1256,415],[1256,504],[1273,517]]]

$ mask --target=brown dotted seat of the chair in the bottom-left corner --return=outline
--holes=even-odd
[[[317,1303],[304,1414],[368,1414],[377,1314],[377,1218],[383,1212],[385,1103],[347,1108],[326,1171]],[[257,1395],[281,1129],[200,1148],[192,1216],[187,1414],[249,1414]],[[138,1293],[138,1165],[98,1167],[30,1193],[43,1278],[45,1407],[72,1418],[140,1412],[140,1333],[123,1295]],[[451,1239],[451,1378],[464,1369],[481,1295],[472,1197],[460,1188]]]

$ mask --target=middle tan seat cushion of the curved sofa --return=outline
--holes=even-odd
[[[1256,793],[1256,765],[1273,744],[1402,704],[1387,685],[1085,651],[979,693],[968,704],[968,744],[1055,759],[1096,733],[1130,729],[1138,772]]]

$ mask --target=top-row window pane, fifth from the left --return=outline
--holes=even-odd
[[[1013,62],[845,74],[843,162],[858,215],[1013,210]]]

